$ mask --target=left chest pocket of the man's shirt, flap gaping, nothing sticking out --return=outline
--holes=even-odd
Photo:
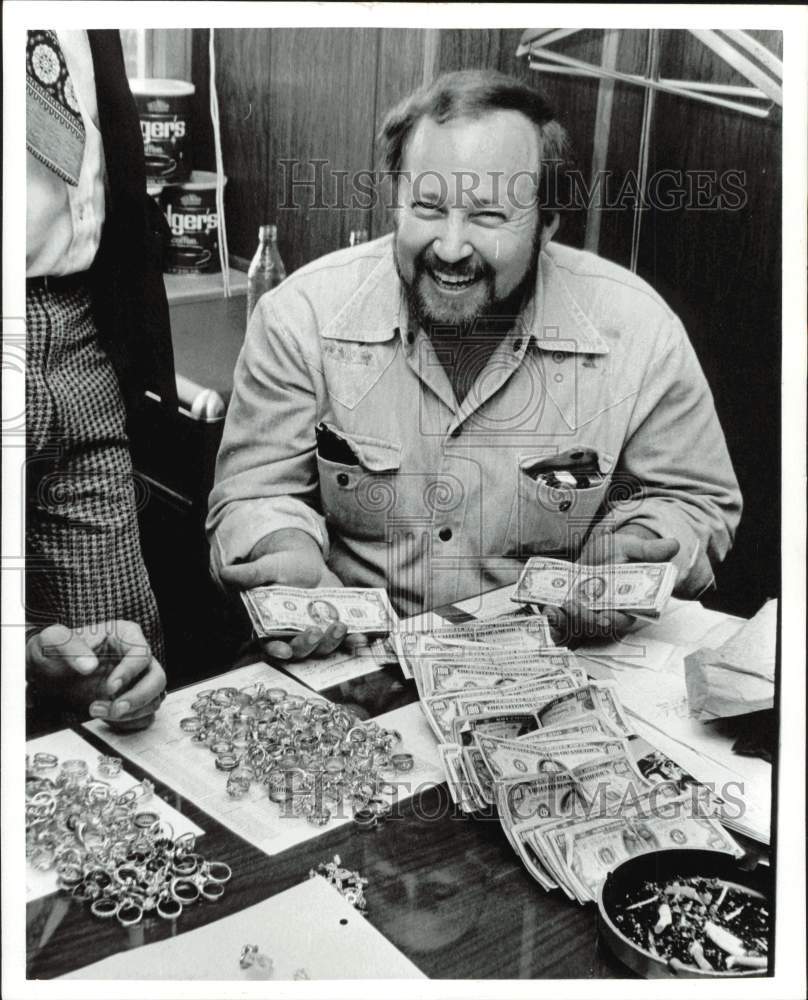
[[[328,426],[328,425],[326,425]],[[348,538],[384,539],[396,504],[401,445],[331,427],[356,455],[347,464],[317,455],[320,498],[328,525]]]

